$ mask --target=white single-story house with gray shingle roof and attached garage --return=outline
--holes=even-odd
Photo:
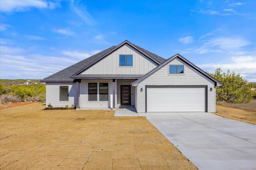
[[[47,78],[46,106],[137,112],[215,111],[222,83],[179,54],[164,59],[124,41]]]

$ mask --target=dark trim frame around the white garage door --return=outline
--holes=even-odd
[[[148,88],[204,88],[204,108],[208,112],[208,85],[145,85],[145,112],[148,111]]]

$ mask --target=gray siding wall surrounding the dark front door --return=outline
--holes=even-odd
[[[117,104],[121,104],[121,85],[131,85],[135,80],[120,80],[116,82],[117,89]],[[134,86],[131,86],[131,106],[134,106]]]

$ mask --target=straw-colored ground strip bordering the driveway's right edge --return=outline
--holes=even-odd
[[[256,125],[256,111],[242,110],[218,105],[216,105],[216,109],[220,111],[220,113],[212,113],[228,119],[234,119]]]

